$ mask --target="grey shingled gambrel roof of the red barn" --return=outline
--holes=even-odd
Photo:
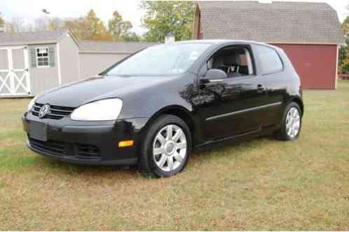
[[[338,16],[326,3],[199,1],[203,39],[265,43],[344,43]]]

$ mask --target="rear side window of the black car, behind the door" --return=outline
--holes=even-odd
[[[256,46],[259,62],[261,63],[262,74],[273,74],[282,71],[282,62],[276,50],[267,46]]]

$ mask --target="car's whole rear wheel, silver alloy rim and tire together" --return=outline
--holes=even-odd
[[[299,137],[301,132],[301,109],[296,102],[291,102],[285,108],[281,128],[276,133],[277,137],[284,140],[295,140]]]

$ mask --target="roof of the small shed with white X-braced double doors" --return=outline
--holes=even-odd
[[[41,43],[57,43],[60,38],[69,33],[67,30],[0,33],[0,45],[28,45]]]

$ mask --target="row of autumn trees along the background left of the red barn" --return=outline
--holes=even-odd
[[[144,11],[141,22],[142,27],[147,29],[143,35],[132,32],[132,23],[123,20],[118,11],[114,11],[105,24],[93,9],[79,18],[43,15],[36,18],[34,24],[25,24],[23,18],[19,17],[5,21],[0,13],[0,27],[6,27],[6,33],[69,29],[77,39],[93,41],[161,42],[171,32],[180,41],[191,39],[195,6],[193,1],[142,1],[139,4]]]

